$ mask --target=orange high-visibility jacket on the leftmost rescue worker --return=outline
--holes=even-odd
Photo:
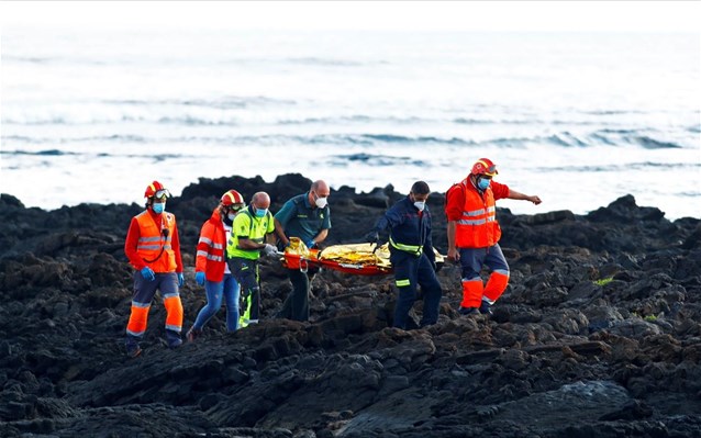
[[[163,212],[162,217],[162,223],[157,225],[147,210],[135,216],[140,231],[136,254],[154,272],[175,272],[177,263],[170,242],[176,229],[176,220],[168,212]]]

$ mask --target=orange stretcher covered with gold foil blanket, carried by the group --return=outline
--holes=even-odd
[[[333,245],[322,250],[308,248],[300,239],[292,237],[285,248],[282,265],[288,269],[307,272],[309,268],[325,268],[356,276],[383,276],[392,273],[388,244]],[[436,263],[444,258],[436,251]]]

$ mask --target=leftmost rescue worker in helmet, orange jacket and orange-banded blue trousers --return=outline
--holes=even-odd
[[[132,312],[126,325],[126,353],[141,353],[140,341],[146,332],[148,310],[160,291],[166,307],[166,341],[175,348],[182,344],[182,303],[178,288],[185,284],[182,258],[176,217],[166,212],[170,193],[158,181],[146,188],[146,210],[132,217],[124,243],[124,254],[134,267]]]

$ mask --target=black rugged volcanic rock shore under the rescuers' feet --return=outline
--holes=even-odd
[[[194,251],[218,198],[264,190],[276,212],[310,183],[200,179],[168,201],[183,332],[205,302]],[[360,242],[408,189],[333,190],[326,243]],[[498,209],[511,282],[491,318],[457,313],[459,269],[446,263],[430,328],[391,328],[392,276],[337,271],[314,279],[309,323],[274,319],[290,284],[268,258],[258,325],[227,334],[221,310],[170,350],[157,299],[136,359],[123,346],[123,245],[143,205],[46,212],[2,194],[0,436],[701,437],[701,221],[670,222],[632,195],[586,215],[546,212],[539,194],[537,214]],[[429,205],[445,254],[443,194]]]

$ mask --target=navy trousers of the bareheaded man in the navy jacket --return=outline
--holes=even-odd
[[[390,261],[394,269],[394,284],[399,294],[394,306],[394,327],[407,328],[409,311],[418,299],[418,285],[423,293],[423,316],[421,326],[438,321],[438,307],[443,290],[425,254],[414,257],[404,251],[392,251]]]

